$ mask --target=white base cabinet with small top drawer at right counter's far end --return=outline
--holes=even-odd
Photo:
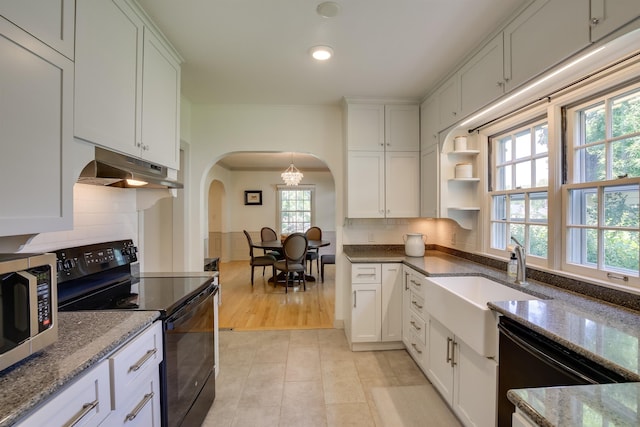
[[[402,348],[401,272],[400,263],[351,264],[353,350]]]

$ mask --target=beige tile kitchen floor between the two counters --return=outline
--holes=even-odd
[[[372,387],[428,384],[404,350],[352,352],[341,329],[220,332],[203,426],[380,426]]]

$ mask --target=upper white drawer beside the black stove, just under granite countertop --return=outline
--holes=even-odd
[[[121,391],[136,388],[138,379],[146,377],[149,372],[157,374],[161,361],[162,323],[155,322],[109,358],[113,409],[129,403]]]

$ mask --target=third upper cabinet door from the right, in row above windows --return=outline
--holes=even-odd
[[[504,93],[502,33],[460,69],[460,111],[467,116]]]

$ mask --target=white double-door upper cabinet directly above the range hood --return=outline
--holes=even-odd
[[[179,168],[180,59],[125,0],[78,2],[75,136]]]

